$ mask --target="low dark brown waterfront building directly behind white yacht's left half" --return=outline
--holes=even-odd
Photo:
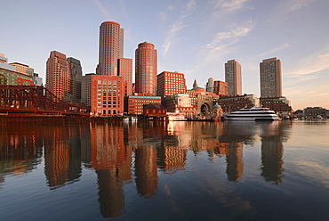
[[[260,100],[254,94],[245,94],[240,96],[221,97],[218,99],[218,104],[221,105],[223,113],[231,113],[239,111],[242,108],[259,106]]]

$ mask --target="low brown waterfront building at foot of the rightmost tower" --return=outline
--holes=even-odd
[[[266,97],[260,98],[261,107],[269,108],[272,111],[276,111],[279,117],[291,116],[293,108],[290,101],[284,97]]]

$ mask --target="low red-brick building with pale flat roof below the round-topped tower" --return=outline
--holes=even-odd
[[[143,105],[151,103],[161,104],[161,97],[130,95],[126,98],[124,112],[127,114],[139,115],[143,113]]]

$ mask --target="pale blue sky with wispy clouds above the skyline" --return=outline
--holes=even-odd
[[[328,0],[1,0],[0,53],[34,68],[45,82],[51,51],[98,64],[99,29],[112,20],[124,29],[124,57],[138,44],[157,50],[157,72],[225,81],[224,64],[242,67],[244,94],[260,96],[260,62],[281,60],[283,95],[293,110],[329,109]],[[134,77],[134,70],[132,73]]]

